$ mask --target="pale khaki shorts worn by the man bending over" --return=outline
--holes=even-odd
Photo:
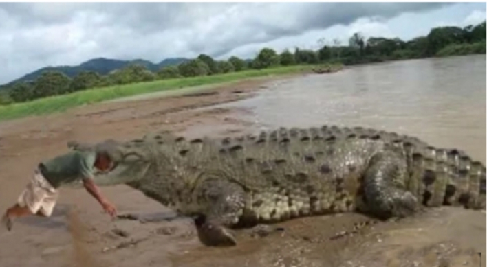
[[[34,175],[30,178],[30,181],[17,199],[17,204],[21,207],[28,207],[32,214],[40,211],[44,216],[49,217],[52,214],[57,199],[58,191],[36,169]]]

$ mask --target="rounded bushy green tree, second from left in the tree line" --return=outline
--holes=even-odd
[[[34,86],[34,98],[69,93],[71,79],[61,71],[45,71],[37,78]]]

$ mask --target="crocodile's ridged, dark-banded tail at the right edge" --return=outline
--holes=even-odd
[[[404,146],[410,174],[406,187],[422,205],[486,208],[486,167],[482,163],[460,150],[434,148],[411,139],[404,143],[409,143]]]

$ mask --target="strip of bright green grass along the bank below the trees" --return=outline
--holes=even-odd
[[[47,115],[50,113],[63,112],[68,108],[81,106],[83,104],[94,104],[107,100],[114,100],[120,97],[169,91],[184,87],[201,86],[208,84],[220,84],[226,82],[237,82],[247,78],[261,76],[283,75],[296,73],[311,69],[312,65],[301,65],[291,67],[275,67],[261,70],[246,70],[234,73],[219,74],[215,76],[198,76],[191,78],[177,78],[169,80],[156,80],[153,82],[140,82],[136,84],[125,84],[120,86],[109,86],[105,88],[89,89],[78,91],[67,95],[56,95],[45,97],[30,102],[14,103],[0,106],[0,121],[19,119],[31,115]]]

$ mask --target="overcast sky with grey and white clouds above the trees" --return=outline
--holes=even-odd
[[[0,3],[0,84],[98,57],[250,58],[262,47],[316,49],[354,32],[409,40],[484,19],[486,3]]]

